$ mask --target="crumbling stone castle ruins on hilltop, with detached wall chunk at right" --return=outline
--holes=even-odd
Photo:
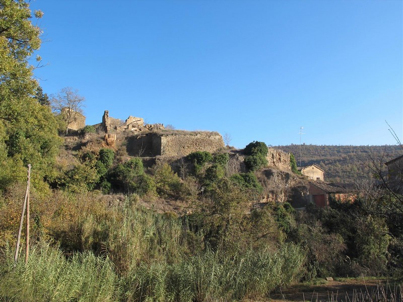
[[[126,145],[129,156],[186,156],[192,152],[217,152],[225,148],[218,132],[165,129],[163,124],[145,124],[141,117],[129,116],[125,121],[109,116],[105,111],[102,123],[95,125],[104,132],[104,142],[115,146],[117,140]],[[290,171],[290,154],[268,148],[268,166]]]

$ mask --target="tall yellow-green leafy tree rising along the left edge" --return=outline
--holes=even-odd
[[[28,58],[40,47],[41,30],[30,19],[28,3],[0,0],[0,189],[24,180],[27,164],[33,185],[40,185],[52,173],[60,144],[53,114],[34,98],[38,83]]]

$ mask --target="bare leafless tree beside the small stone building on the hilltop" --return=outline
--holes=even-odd
[[[56,95],[50,96],[50,106],[55,113],[62,115],[67,123],[66,134],[69,132],[69,125],[75,119],[77,114],[83,113],[85,98],[79,95],[79,91],[71,87],[62,88]]]

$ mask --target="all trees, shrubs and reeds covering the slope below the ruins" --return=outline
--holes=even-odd
[[[306,180],[268,168],[263,142],[150,165],[84,143],[103,137],[94,128],[63,146],[67,124],[28,61],[41,33],[31,18],[29,3],[0,0],[1,301],[243,301],[315,277],[403,279],[403,197],[382,186],[296,211],[267,195]],[[28,196],[25,262],[25,249],[13,256]]]

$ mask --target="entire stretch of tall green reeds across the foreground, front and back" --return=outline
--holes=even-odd
[[[70,209],[68,201],[62,204]],[[64,224],[49,224],[53,240],[67,248],[64,253],[37,246],[31,249],[28,265],[20,261],[16,266],[11,251],[4,254],[0,300],[242,300],[298,279],[305,261],[292,244],[277,252],[205,249],[200,244],[203,235],[191,232],[174,214],[138,206],[136,196],[115,207],[99,203],[93,211],[81,208],[81,215],[75,211],[65,215],[68,219],[60,218]]]

